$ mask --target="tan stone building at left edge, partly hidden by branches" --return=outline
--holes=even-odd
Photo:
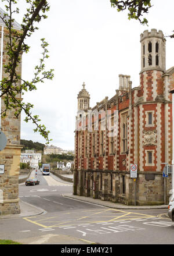
[[[5,34],[8,31],[4,30]],[[0,40],[1,41],[1,40]],[[6,42],[8,38],[4,36],[3,41],[3,65],[8,64],[6,54]],[[17,67],[17,74],[21,75],[21,63]],[[6,77],[4,70],[2,79]],[[17,95],[21,99],[21,95]],[[4,98],[1,98],[1,111],[5,108]],[[4,150],[0,151],[0,164],[5,165],[4,174],[0,175],[0,215],[19,214],[19,170],[20,170],[20,124],[21,119],[14,116],[15,109],[10,109],[5,118],[1,118],[1,130],[5,133],[7,144]]]

